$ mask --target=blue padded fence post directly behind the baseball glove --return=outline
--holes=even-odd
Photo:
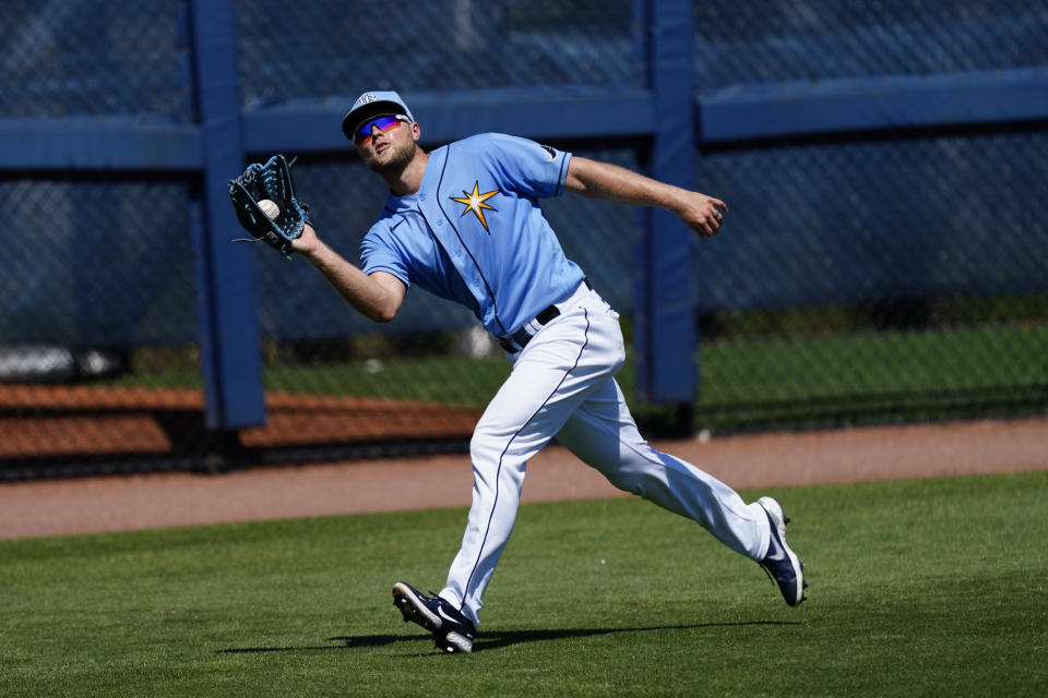
[[[203,133],[203,192],[196,207],[198,310],[209,429],[265,421],[262,352],[250,245],[239,231],[227,182],[243,168],[230,0],[189,0],[190,47]]]

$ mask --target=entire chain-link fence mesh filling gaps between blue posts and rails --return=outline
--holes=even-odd
[[[645,88],[642,4],[235,0],[240,104],[251,112],[365,88]],[[0,119],[194,123],[188,12],[188,0],[7,3]],[[717,0],[694,12],[699,99],[757,83],[1048,70],[1048,7],[1033,1]],[[696,243],[693,425],[1044,413],[1044,125],[703,146],[696,186],[731,210],[720,236]],[[645,164],[643,139],[567,145],[632,169]],[[356,260],[382,182],[337,153],[302,155],[295,174],[317,226]],[[195,462],[230,437],[294,444],[302,456],[391,434],[404,443],[468,434],[508,371],[468,313],[412,291],[401,316],[377,326],[309,265],[263,250],[257,306],[270,424],[207,433],[199,188],[192,172],[0,171],[0,460],[9,477],[48,458],[63,472],[87,458],[116,469],[165,454],[168,464]],[[629,334],[634,212],[572,197],[544,208],[569,256],[623,311]],[[666,422],[663,408],[636,402],[631,370],[620,378],[640,418]],[[400,426],[377,429],[376,419]]]

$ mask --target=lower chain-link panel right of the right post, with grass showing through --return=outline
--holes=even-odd
[[[733,208],[698,252],[701,423],[1044,410],[1046,156],[1039,130],[704,154]]]

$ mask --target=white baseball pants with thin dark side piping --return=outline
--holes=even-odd
[[[620,490],[698,521],[736,552],[763,557],[770,529],[760,505],[641,436],[614,378],[626,360],[619,315],[599,294],[582,294],[510,360],[513,370],[469,445],[473,505],[440,592],[474,623],[513,531],[527,461],[553,436]]]

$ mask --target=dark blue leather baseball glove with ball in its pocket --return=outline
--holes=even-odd
[[[309,206],[295,197],[290,166],[283,155],[274,155],[265,164],[248,165],[240,177],[229,180],[229,198],[240,225],[251,233],[251,238],[238,238],[235,242],[261,241],[285,257],[291,256],[291,241],[302,234],[302,226],[309,222]],[[259,207],[259,202],[266,198],[279,208],[273,218]]]

